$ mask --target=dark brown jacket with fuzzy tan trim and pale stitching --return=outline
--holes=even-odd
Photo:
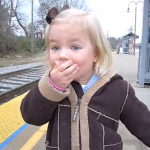
[[[122,150],[119,120],[150,147],[150,112],[120,75],[108,71],[85,94],[77,82],[59,93],[47,77],[48,72],[21,104],[27,123],[40,126],[49,122],[46,150]],[[73,121],[78,99],[80,109]]]

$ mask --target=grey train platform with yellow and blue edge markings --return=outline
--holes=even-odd
[[[113,60],[114,67],[118,73],[131,83],[137,97],[143,101],[150,110],[150,88],[138,88],[135,83],[137,57],[114,55]],[[45,149],[47,124],[43,126],[32,126],[26,124],[21,117],[20,104],[26,94],[27,93],[0,105],[0,150]],[[132,136],[122,123],[120,123],[118,133],[124,141],[123,150],[150,150],[150,148],[147,148],[137,138]]]

